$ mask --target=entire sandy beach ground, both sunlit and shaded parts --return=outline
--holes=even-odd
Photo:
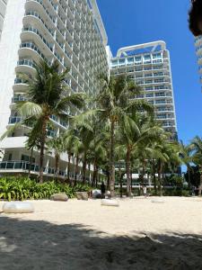
[[[34,213],[1,212],[0,269],[202,269],[202,199],[153,199],[34,201]]]

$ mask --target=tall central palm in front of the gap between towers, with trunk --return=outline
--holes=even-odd
[[[98,94],[98,108],[101,119],[109,121],[110,126],[110,193],[114,196],[115,184],[115,130],[121,121],[127,118],[131,110],[151,109],[143,100],[134,100],[140,93],[140,87],[127,76],[101,78],[101,92]]]

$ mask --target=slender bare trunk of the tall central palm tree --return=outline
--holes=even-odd
[[[114,143],[115,143],[115,122],[111,121],[110,124],[110,196],[115,196],[115,165],[114,165]]]

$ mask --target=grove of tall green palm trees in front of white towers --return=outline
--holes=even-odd
[[[17,103],[17,112],[22,116],[17,125],[30,128],[27,148],[32,154],[33,150],[40,152],[40,184],[44,152],[50,149],[55,157],[57,182],[61,180],[60,157],[66,153],[63,181],[68,188],[75,188],[78,183],[98,186],[104,178],[111,196],[117,188],[122,195],[125,184],[129,196],[134,184],[148,183],[154,184],[154,194],[162,195],[170,185],[168,177],[180,177],[180,166],[185,165],[190,193],[190,174],[196,165],[201,175],[197,186],[201,194],[201,138],[192,139],[189,145],[178,142],[172,130],[164,130],[161,122],[155,121],[154,106],[138,98],[142,89],[126,75],[100,76],[97,93],[89,97],[72,93],[66,87],[67,73],[68,70],[59,70],[57,62],[50,66],[41,62],[36,67],[36,76],[28,81],[26,101]],[[54,117],[65,121],[67,129],[50,139],[48,130],[53,130]],[[138,183],[134,182],[134,174],[139,175]],[[179,184],[175,187],[180,188]],[[14,196],[12,193],[9,196]]]

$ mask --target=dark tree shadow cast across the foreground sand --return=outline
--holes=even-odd
[[[0,269],[202,269],[202,236],[107,237],[79,224],[0,215]]]

